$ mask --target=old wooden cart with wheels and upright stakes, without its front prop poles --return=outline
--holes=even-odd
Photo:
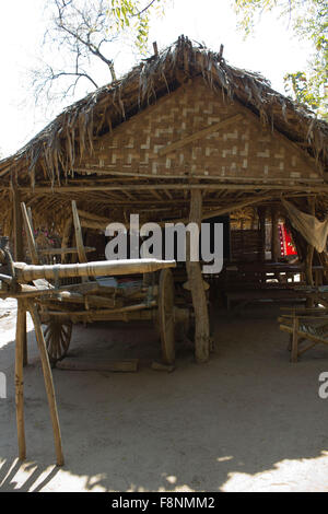
[[[82,241],[82,231],[77,206],[72,202],[75,230],[77,252],[83,266],[90,266],[84,274],[77,273],[82,279],[80,283],[61,285],[60,280],[72,277],[70,267],[73,265],[48,266],[42,279],[35,279],[39,294],[35,297],[44,328],[44,337],[49,360],[52,365],[63,359],[68,352],[72,326],[77,323],[93,323],[98,320],[144,320],[154,323],[160,332],[162,361],[172,364],[175,360],[175,334],[186,332],[189,325],[189,309],[175,305],[175,284],[169,268],[175,261],[155,261],[138,259],[125,262],[114,261],[112,276],[102,276],[102,270],[108,261],[91,266],[86,260],[86,252]],[[39,265],[39,253],[34,238],[31,212],[22,203],[28,250],[33,265]],[[52,250],[56,254],[56,249]],[[150,273],[144,272],[145,262],[152,262]],[[36,267],[35,266],[35,267]],[[80,266],[80,271],[81,271]],[[120,274],[122,273],[124,274]],[[127,274],[128,273],[128,274]],[[107,273],[106,273],[107,274]],[[44,292],[44,294],[43,294]],[[181,330],[183,329],[183,330]]]

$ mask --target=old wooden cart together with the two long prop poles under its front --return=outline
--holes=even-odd
[[[15,338],[15,404],[19,456],[26,458],[24,429],[23,366],[27,362],[26,312],[34,324],[45,387],[49,404],[57,465],[63,465],[60,425],[49,358],[62,359],[69,348],[72,324],[96,319],[154,319],[159,324],[163,360],[175,358],[174,335],[177,323],[185,323],[188,311],[177,308],[174,300],[174,280],[169,268],[176,262],[156,259],[96,261],[72,265],[37,265],[37,248],[30,219],[25,212],[25,229],[33,264],[14,262],[8,238],[0,238],[0,299],[17,299]],[[138,277],[106,283],[108,277]],[[105,277],[106,279],[104,279]],[[115,279],[114,279],[115,277]],[[79,284],[61,285],[65,278],[80,278]],[[95,278],[96,280],[92,280]],[[144,280],[151,278],[152,280]],[[33,285],[31,284],[33,282]],[[151,283],[149,283],[151,282]],[[45,323],[46,327],[42,328]]]

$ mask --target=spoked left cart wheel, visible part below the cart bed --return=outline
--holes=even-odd
[[[68,352],[72,337],[72,323],[60,323],[51,319],[44,330],[44,336],[49,361],[51,364],[56,364],[56,362],[61,361]]]

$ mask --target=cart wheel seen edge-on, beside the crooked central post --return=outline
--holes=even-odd
[[[174,279],[171,269],[162,269],[159,289],[159,322],[162,359],[165,364],[175,360]]]

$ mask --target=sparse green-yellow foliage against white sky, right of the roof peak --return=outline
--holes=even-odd
[[[289,21],[300,38],[311,40],[314,54],[306,70],[286,73],[285,91],[306,104],[320,117],[328,118],[328,4],[327,0],[235,0],[238,26],[246,36],[263,12],[276,11]]]

